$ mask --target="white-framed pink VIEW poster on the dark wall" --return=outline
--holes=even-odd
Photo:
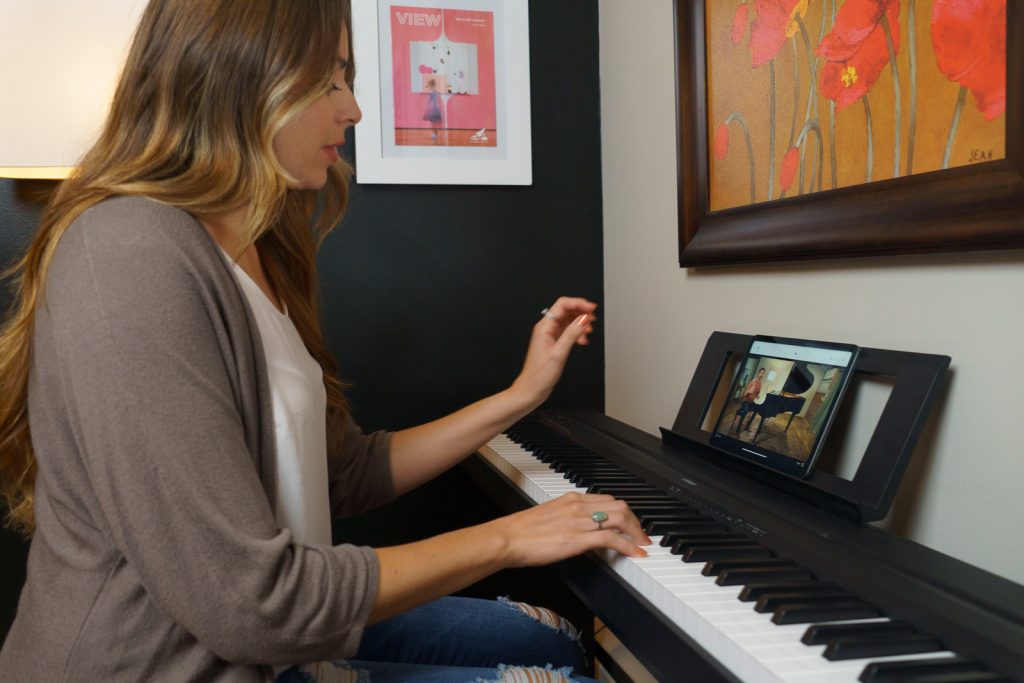
[[[354,0],[355,179],[532,182],[526,0]]]

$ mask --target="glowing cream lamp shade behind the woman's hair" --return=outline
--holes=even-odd
[[[0,177],[65,178],[99,134],[145,0],[0,0]]]

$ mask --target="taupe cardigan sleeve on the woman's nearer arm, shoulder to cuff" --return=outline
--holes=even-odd
[[[123,558],[161,610],[217,656],[266,665],[354,654],[377,596],[376,554],[298,545],[276,527],[229,379],[224,349],[239,331],[223,325],[195,244],[175,236],[208,238],[167,207],[153,221],[184,221],[177,233],[103,207],[60,240],[37,309],[45,340],[35,348],[52,357],[33,358],[46,370],[32,404],[62,411],[74,438],[51,453],[56,437],[34,432],[41,465],[81,460],[88,480],[75,485],[96,509],[74,514],[91,515],[112,561]]]

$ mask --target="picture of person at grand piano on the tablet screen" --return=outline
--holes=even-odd
[[[750,357],[736,377],[718,431],[805,461],[843,384],[844,372],[814,362]]]

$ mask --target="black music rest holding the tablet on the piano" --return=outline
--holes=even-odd
[[[853,372],[890,377],[894,384],[860,465],[852,480],[821,470],[798,479],[712,449],[711,433],[700,429],[719,382],[731,380],[727,376],[733,367],[730,356],[743,357],[753,339],[753,335],[727,332],[711,335],[672,429],[662,427],[663,442],[671,449],[714,459],[716,465],[858,523],[883,519],[889,513],[928,412],[944,384],[949,356],[861,348]],[[850,402],[845,401],[838,410],[849,411]],[[703,447],[694,449],[693,444]]]

